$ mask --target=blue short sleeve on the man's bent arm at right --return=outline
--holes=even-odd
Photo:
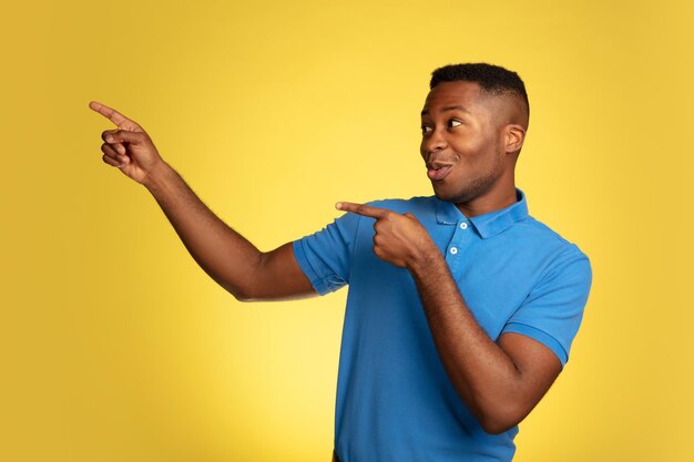
[[[571,244],[550,265],[501,333],[521,333],[543,343],[563,367],[581,325],[591,284],[590,260]]]

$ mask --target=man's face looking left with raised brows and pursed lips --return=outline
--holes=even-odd
[[[489,193],[512,168],[502,148],[502,104],[474,82],[443,82],[429,92],[420,152],[438,198],[468,203]]]

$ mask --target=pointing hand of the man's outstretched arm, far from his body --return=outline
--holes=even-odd
[[[144,184],[147,175],[163,163],[150,136],[136,122],[114,109],[96,101],[89,103],[89,106],[118,126],[118,130],[106,130],[101,134],[104,141],[101,145],[103,162]]]

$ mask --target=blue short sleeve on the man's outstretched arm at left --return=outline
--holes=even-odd
[[[326,295],[349,284],[359,218],[345,214],[319,232],[292,243],[296,261],[316,292]]]

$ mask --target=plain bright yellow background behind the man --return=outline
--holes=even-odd
[[[242,305],[102,163],[140,122],[271,249],[339,199],[430,194],[430,72],[520,73],[530,212],[590,257],[571,359],[519,462],[690,461],[692,2],[93,0],[0,18],[0,460],[327,461],[346,290]]]

